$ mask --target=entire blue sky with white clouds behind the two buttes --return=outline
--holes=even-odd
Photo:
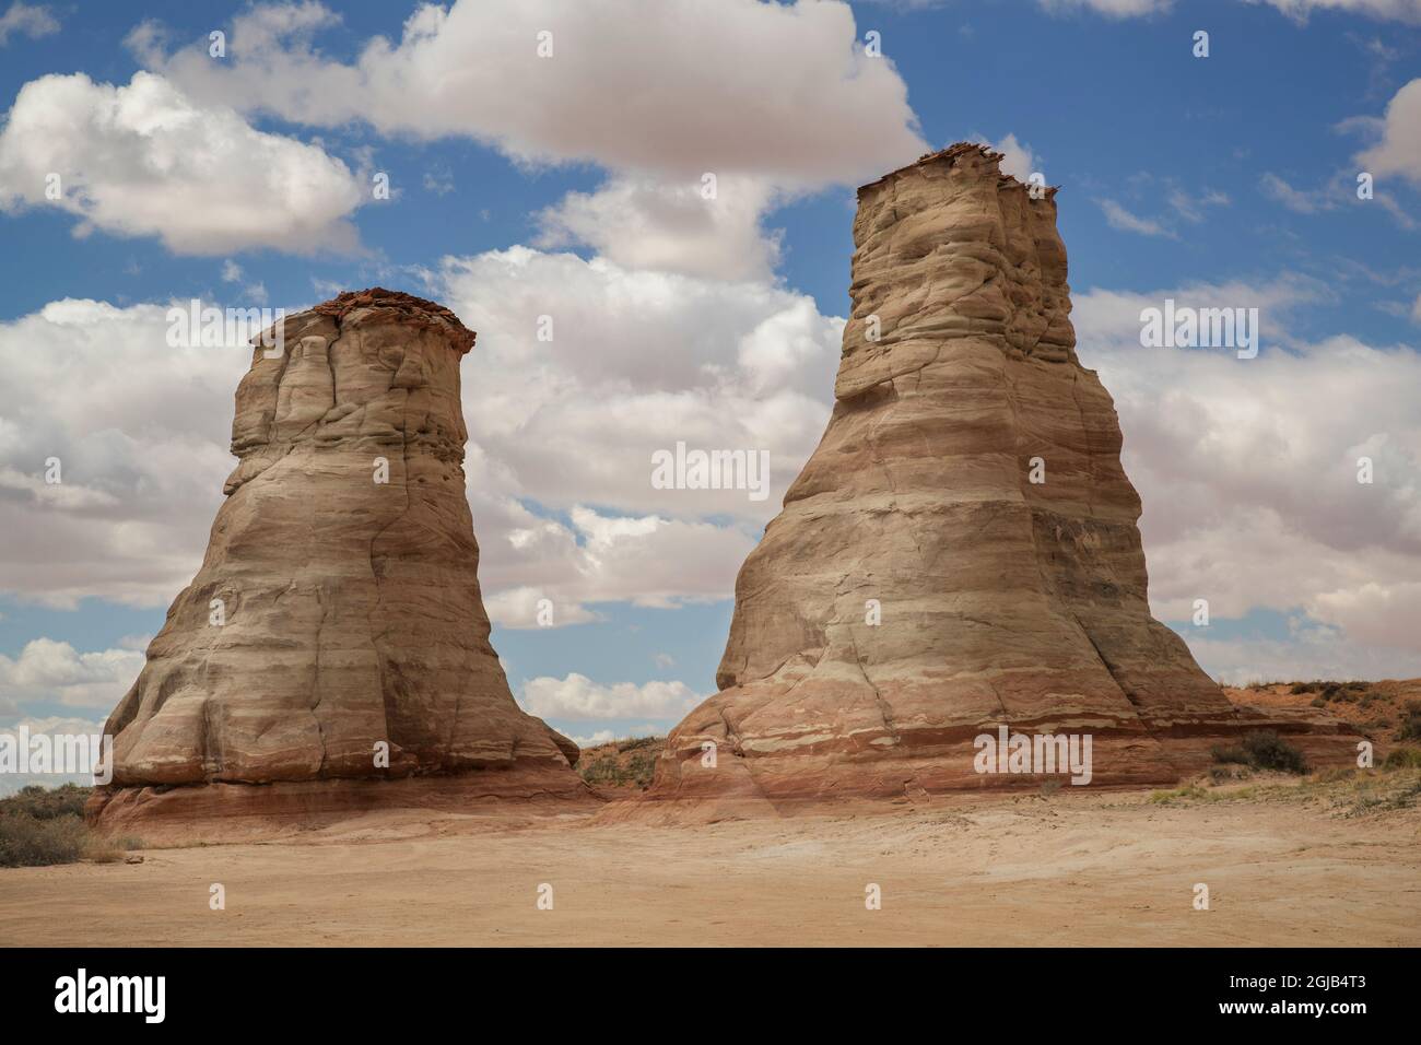
[[[1215,675],[1421,674],[1405,627],[1421,611],[1421,4],[818,7],[811,24],[726,0],[701,30],[686,18],[699,40],[620,1],[595,26],[492,3],[412,30],[399,3],[0,14],[0,104],[14,107],[0,131],[0,725],[102,719],[200,560],[243,360],[144,371],[162,309],[296,309],[379,283],[445,300],[480,333],[463,368],[470,500],[514,694],[541,694],[534,709],[573,736],[665,729],[713,692],[735,570],[823,429],[854,185],[966,138],[1063,186],[1080,355],[1121,412],[1157,614]],[[509,50],[544,23],[567,77],[553,91]],[[220,60],[213,30],[230,40]],[[863,55],[870,30],[882,58]],[[389,45],[371,51],[378,36]],[[723,61],[752,37],[763,53]],[[455,104],[441,61],[445,82],[475,77]],[[200,131],[163,148],[186,155],[84,129],[175,107]],[[274,173],[247,183],[267,146]],[[320,220],[290,188],[310,149],[330,164]],[[41,156],[71,165],[72,205],[36,195]],[[1367,164],[1376,199],[1358,200]],[[171,199],[155,165],[176,172]],[[705,169],[725,210],[682,235]],[[377,173],[388,200],[367,192]],[[250,218],[220,235],[195,218],[232,200]],[[1138,307],[1167,296],[1262,306],[1260,365],[1145,357]],[[519,324],[541,311],[571,347],[530,374]],[[645,448],[682,429],[770,449],[769,503],[645,489]],[[1358,446],[1380,489],[1329,488]],[[34,488],[48,448],[77,476],[70,500]],[[534,589],[567,607],[560,627],[527,626]],[[1194,597],[1211,600],[1208,631],[1189,624]],[[627,714],[605,711],[624,697]]]

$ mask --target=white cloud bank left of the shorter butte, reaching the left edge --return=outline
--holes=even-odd
[[[161,606],[196,572],[252,350],[171,348],[166,311],[63,300],[0,323],[0,590]]]

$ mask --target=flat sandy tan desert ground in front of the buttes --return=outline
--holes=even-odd
[[[1417,786],[1414,771],[1385,783]],[[381,813],[141,864],[0,872],[0,941],[1421,944],[1421,809],[1366,793],[1064,788],[695,827]],[[209,909],[212,883],[226,910]]]

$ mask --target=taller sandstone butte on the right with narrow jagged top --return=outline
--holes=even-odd
[[[1150,616],[1054,189],[1032,199],[999,159],[959,144],[858,191],[828,428],[736,580],[720,692],[672,731],[649,799],[1020,783],[975,772],[999,724],[1090,734],[1094,783],[1174,781],[1242,728],[1351,751],[1236,709]]]

